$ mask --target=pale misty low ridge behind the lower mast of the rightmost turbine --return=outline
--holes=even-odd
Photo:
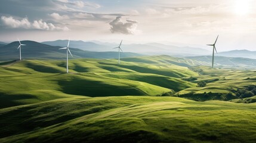
[[[197,57],[186,57],[192,60],[203,61],[211,66],[212,56],[197,56]],[[256,59],[241,58],[241,57],[222,57],[216,56],[214,58],[215,66],[232,66],[232,67],[256,67]]]

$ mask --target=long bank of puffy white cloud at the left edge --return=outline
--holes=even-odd
[[[58,27],[55,26],[52,23],[46,23],[45,21],[41,20],[34,20],[33,23],[31,23],[28,18],[23,18],[22,20],[14,19],[13,17],[1,17],[2,24],[4,26],[7,26],[9,28],[20,28],[20,29],[38,29],[38,30],[62,30],[67,31],[69,28],[65,27]]]

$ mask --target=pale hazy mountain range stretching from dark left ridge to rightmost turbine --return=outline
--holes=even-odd
[[[67,40],[42,42],[52,46],[66,46]],[[107,43],[100,41],[84,42],[84,41],[70,41],[70,47],[79,48],[87,51],[116,51],[113,49],[119,43]],[[125,52],[136,52],[147,55],[174,55],[177,57],[209,55],[211,51],[202,48],[193,48],[189,46],[172,46],[164,45],[162,43],[146,43],[146,44],[122,44],[122,49]]]

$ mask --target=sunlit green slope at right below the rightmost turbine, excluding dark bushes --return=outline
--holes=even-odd
[[[212,93],[232,93],[235,94],[237,89],[243,89],[248,85],[256,85],[256,74],[255,70],[239,70],[239,69],[214,69],[210,67],[193,67],[192,70],[199,72],[201,75],[196,76],[198,81],[208,82],[205,87],[192,87],[184,89],[178,94],[180,97],[186,98],[196,98],[196,97],[187,97],[190,92],[195,92],[196,94],[203,94],[203,92],[212,92]],[[217,80],[216,80],[217,79]],[[216,81],[214,81],[216,80]],[[190,96],[190,95],[189,95]],[[235,98],[235,97],[234,97]],[[206,99],[207,100],[207,99]],[[232,98],[227,99],[232,100]]]

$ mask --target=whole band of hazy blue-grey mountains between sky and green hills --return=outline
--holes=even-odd
[[[50,42],[35,42],[22,41],[26,46],[22,46],[21,52],[23,59],[32,58],[51,58],[65,59],[66,51],[59,50],[67,45],[66,40],[50,41]],[[70,41],[70,51],[74,57],[70,58],[118,58],[118,51],[113,49],[119,43],[106,42],[84,42]],[[17,60],[18,42],[9,44],[0,42],[0,61]],[[146,43],[146,44],[124,44],[121,46],[124,52],[121,53],[121,58],[137,57],[141,55],[171,55],[173,57],[183,57],[191,60],[202,61],[205,66],[211,64],[211,51],[202,48],[192,48],[189,46],[172,46],[161,43]],[[234,50],[220,52],[215,56],[215,64],[217,66],[256,66],[256,51]]]

